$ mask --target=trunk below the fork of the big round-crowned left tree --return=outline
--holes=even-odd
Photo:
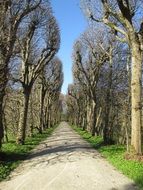
[[[24,90],[23,104],[20,111],[17,144],[23,145],[26,137],[27,115],[29,106],[30,90]]]

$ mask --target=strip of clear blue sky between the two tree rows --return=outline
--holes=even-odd
[[[51,0],[51,4],[61,31],[61,48],[58,56],[63,62],[64,71],[62,93],[66,94],[68,84],[72,83],[73,44],[84,32],[87,23],[80,9],[80,0]]]

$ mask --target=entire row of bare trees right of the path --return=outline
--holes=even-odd
[[[127,142],[141,155],[143,1],[81,5],[90,26],[73,48],[69,120],[102,135],[106,144]]]

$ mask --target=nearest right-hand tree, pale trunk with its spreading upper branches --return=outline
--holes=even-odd
[[[104,23],[111,28],[116,38],[127,43],[131,53],[131,144],[137,154],[141,154],[141,81],[143,60],[143,11],[142,0],[101,0],[98,8],[95,1],[82,0],[84,11],[96,23]],[[97,10],[98,9],[98,10]]]

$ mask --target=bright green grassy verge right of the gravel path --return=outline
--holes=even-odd
[[[81,128],[72,127],[79,135],[97,149],[113,166],[124,175],[134,180],[143,190],[143,163],[139,161],[126,160],[124,158],[126,148],[122,145],[105,146],[101,137],[92,137],[90,133]]]

